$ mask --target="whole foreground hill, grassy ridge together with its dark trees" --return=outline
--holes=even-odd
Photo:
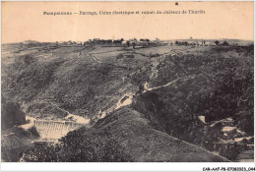
[[[81,128],[69,133],[61,139],[61,143],[47,147],[45,149],[37,144],[23,158],[35,161],[39,157],[36,161],[50,162],[228,161],[222,156],[155,130],[143,114],[127,107],[99,120],[93,129]]]

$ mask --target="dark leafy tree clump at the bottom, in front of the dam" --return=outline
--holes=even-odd
[[[80,128],[60,139],[39,143],[25,152],[27,162],[125,162],[132,158],[106,130]]]

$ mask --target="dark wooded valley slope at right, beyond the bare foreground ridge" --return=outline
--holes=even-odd
[[[214,47],[172,56],[160,65],[150,85],[171,116],[183,123],[204,115],[207,121],[233,117],[253,134],[253,46]],[[245,119],[245,120],[241,120]]]

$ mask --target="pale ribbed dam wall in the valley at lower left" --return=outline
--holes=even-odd
[[[35,129],[42,140],[58,140],[66,136],[69,132],[78,129],[81,126],[87,126],[85,123],[72,121],[51,121],[34,120]]]

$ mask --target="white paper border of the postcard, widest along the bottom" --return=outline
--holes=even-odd
[[[2,2],[2,0],[0,0]],[[16,1],[16,0],[8,0],[8,1]],[[30,1],[30,0],[25,0]],[[33,1],[41,1],[41,0],[33,0]],[[58,1],[58,0],[44,0],[44,1]],[[71,1],[71,0],[63,0],[63,1]],[[78,0],[83,1],[83,0]],[[106,1],[106,0],[94,0],[94,1]],[[114,1],[114,0],[109,0]],[[136,0],[127,0],[127,1],[136,1]],[[153,1],[153,0],[141,0],[141,1]],[[168,1],[168,0],[161,0]],[[186,1],[186,0],[178,0],[178,1]],[[190,1],[198,1],[198,0],[190,0]],[[203,1],[218,1],[218,0],[203,0]],[[244,0],[224,0],[224,1],[244,1]],[[248,0],[253,1],[253,0]],[[1,4],[0,4],[1,8]],[[255,9],[256,2],[254,1],[254,21],[255,21]],[[0,13],[1,15],[1,13]],[[0,23],[1,26],[1,23]],[[255,40],[255,22],[254,22],[254,40]],[[0,27],[1,31],[1,27]],[[0,44],[1,44],[1,35],[0,35]],[[0,48],[1,50],[1,48]],[[255,57],[255,46],[254,46],[254,57]],[[1,55],[0,55],[1,56]],[[256,64],[256,59],[254,58],[254,64]],[[1,69],[1,66],[0,66]],[[1,70],[0,70],[1,73]],[[254,67],[254,81],[256,79],[256,68]],[[1,86],[0,86],[1,87]],[[255,83],[254,83],[254,102],[256,102],[256,93],[255,93]],[[0,94],[1,97],[1,94]],[[254,104],[255,109],[255,104]],[[255,112],[254,112],[255,116]],[[0,119],[1,120],[1,119]],[[254,124],[256,123],[256,119],[254,118]],[[254,127],[254,134],[256,133]],[[255,143],[255,141],[254,141]],[[254,150],[255,154],[256,150]],[[78,163],[68,163],[68,162],[58,162],[58,163],[14,163],[14,162],[1,162],[0,168],[1,171],[203,171],[204,167],[211,168],[222,168],[222,167],[255,167],[254,162],[131,162],[131,163],[91,163],[91,162],[78,162]],[[219,170],[221,171],[221,170]]]

